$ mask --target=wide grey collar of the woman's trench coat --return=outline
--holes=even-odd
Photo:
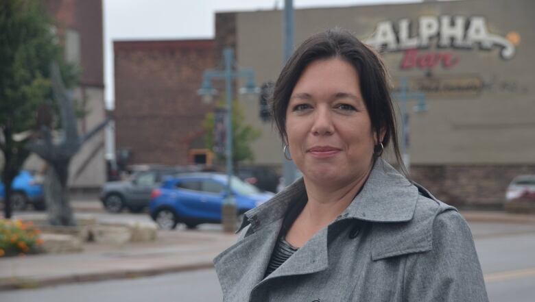
[[[240,231],[251,224],[257,231],[273,221],[283,218],[291,201],[306,198],[302,177],[276,194],[270,201],[246,212]],[[340,218],[357,218],[361,221],[396,223],[410,221],[418,199],[418,188],[399,174],[385,160],[379,158],[370,172],[361,192],[340,215]]]

